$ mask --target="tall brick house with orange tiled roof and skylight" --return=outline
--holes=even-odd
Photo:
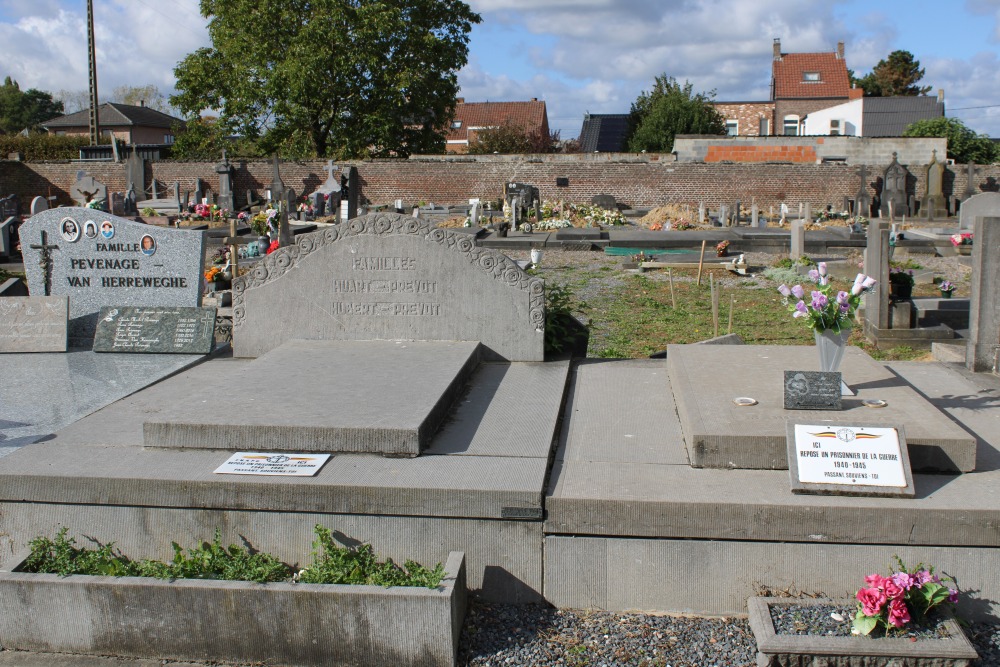
[[[852,88],[844,43],[823,53],[782,53],[775,39],[771,61],[771,99],[762,102],[716,102],[732,136],[798,136],[810,113],[860,99]]]

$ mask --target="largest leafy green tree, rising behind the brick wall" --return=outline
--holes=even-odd
[[[440,152],[480,17],[461,0],[201,0],[211,48],[174,69],[171,103],[220,114],[272,151],[297,134],[316,156]]]

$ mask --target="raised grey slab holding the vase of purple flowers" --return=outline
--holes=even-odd
[[[786,422],[836,419],[904,426],[914,472],[975,469],[975,439],[857,347],[847,348],[841,366],[844,382],[857,393],[843,399],[843,410],[784,410],[783,372],[818,363],[811,346],[669,346],[667,365],[691,465],[785,470]],[[736,406],[733,399],[742,396],[758,403]],[[866,399],[888,406],[868,408]]]

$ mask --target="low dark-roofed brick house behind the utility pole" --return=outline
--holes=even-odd
[[[147,106],[105,102],[97,107],[101,136],[114,134],[126,144],[172,144],[174,128],[184,121]],[[49,134],[90,136],[90,110],[59,116],[41,124]]]

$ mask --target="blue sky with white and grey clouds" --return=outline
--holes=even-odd
[[[483,21],[459,72],[467,102],[546,102],[576,138],[585,113],[628,113],[654,78],[690,81],[720,101],[765,100],[774,38],[782,51],[846,44],[858,76],[895,50],[946,113],[1000,137],[1000,0],[466,0]],[[21,89],[87,88],[86,0],[0,0],[0,76]],[[197,0],[94,0],[98,89],[156,85],[210,46]]]

